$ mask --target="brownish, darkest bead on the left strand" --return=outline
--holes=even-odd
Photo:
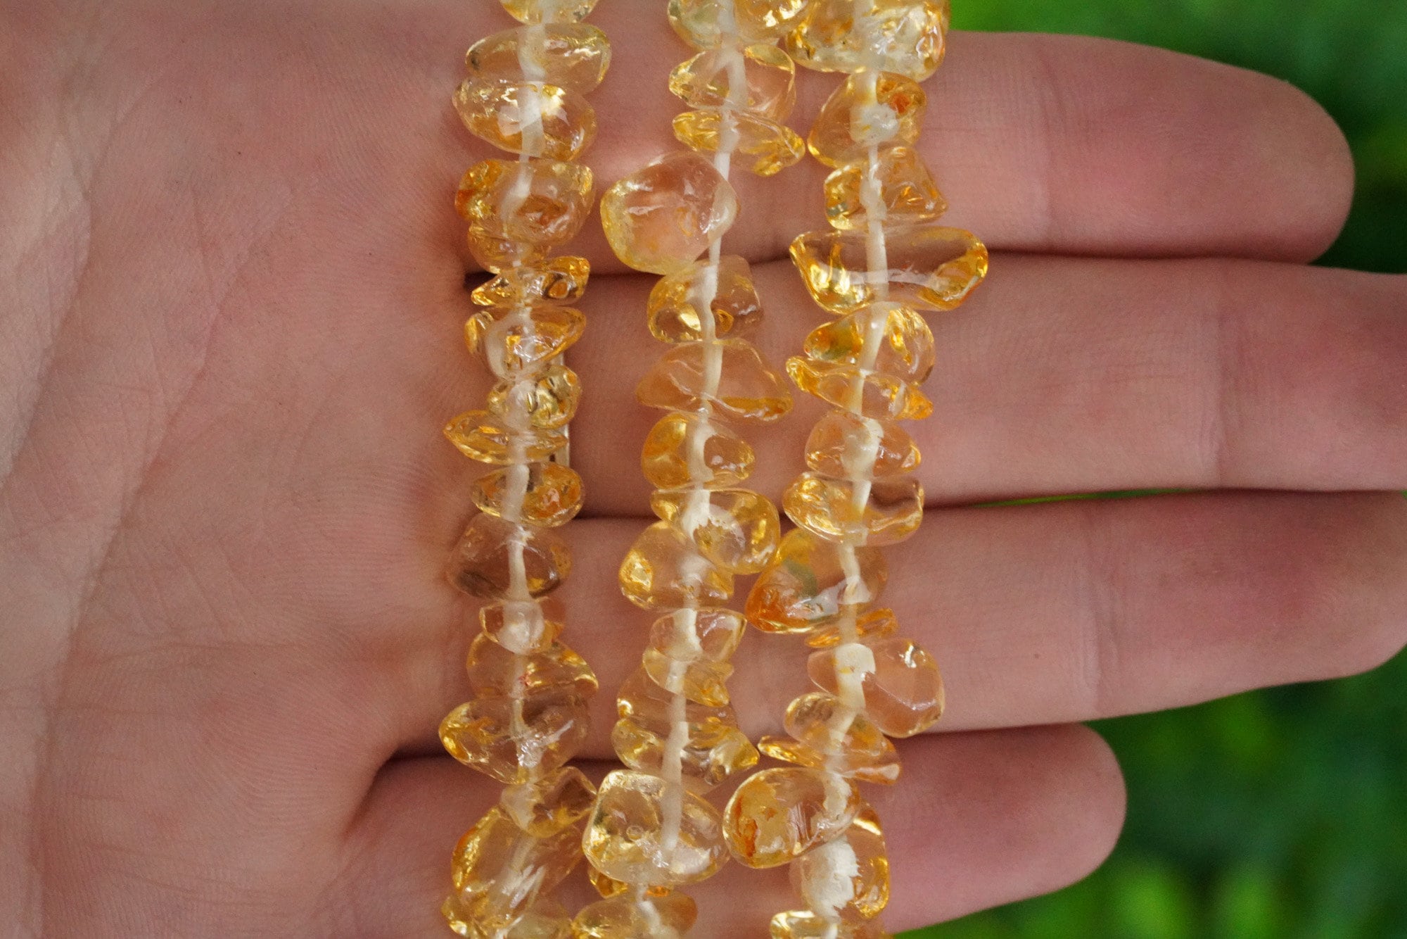
[[[515,584],[518,557],[522,583]],[[515,588],[540,597],[561,586],[571,572],[571,550],[549,528],[529,528],[480,514],[469,519],[449,559],[449,581],[484,600],[526,600]]]

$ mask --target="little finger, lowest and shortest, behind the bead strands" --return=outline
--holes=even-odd
[[[1124,794],[1113,755],[1079,728],[955,733],[903,743],[899,786],[865,787],[885,824],[892,900],[885,922],[906,929],[1047,893],[1083,877],[1113,847]],[[601,771],[601,767],[597,767]],[[456,839],[488,807],[492,786],[447,757],[388,764],[350,832],[348,863],[328,890],[338,926],[359,936],[438,936]],[[720,795],[713,797],[722,804]],[[561,897],[594,897],[578,869]],[[796,907],[785,869],[727,864],[688,887],[694,935],[756,936]]]

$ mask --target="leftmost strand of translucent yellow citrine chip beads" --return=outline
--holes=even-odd
[[[456,208],[474,259],[497,275],[473,293],[483,310],[464,327],[470,351],[498,379],[487,410],[445,428],[470,458],[499,466],[471,490],[474,515],[450,556],[449,580],[484,603],[470,643],[473,698],[440,722],[461,763],[505,784],[459,842],[443,914],[474,939],[563,939],[571,918],[549,897],[581,859],[581,819],[595,788],[566,766],[587,735],[590,666],[557,641],[549,597],[571,567],[553,529],[580,511],[567,428],[580,384],[563,353],[585,327],[578,300],[590,265],[550,251],[570,241],[592,204],[591,170],[575,163],[595,132],[580,97],[599,84],[611,48],[578,23],[595,0],[502,0],[525,25],[466,55],[454,92],[464,125],[516,160],[487,159],[464,175]]]

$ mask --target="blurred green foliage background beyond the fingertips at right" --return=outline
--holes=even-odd
[[[1407,0],[954,0],[954,27],[1130,39],[1293,82],[1358,166],[1323,263],[1407,272]],[[1109,863],[906,936],[1407,939],[1404,690],[1397,656],[1346,681],[1099,722],[1128,780]]]

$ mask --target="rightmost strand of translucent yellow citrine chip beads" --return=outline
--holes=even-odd
[[[772,918],[774,939],[877,939],[889,901],[889,862],[874,808],[855,781],[893,783],[889,736],[912,736],[943,712],[931,656],[899,638],[875,608],[888,570],[881,545],[909,538],[923,517],[913,439],[896,422],[933,410],[919,384],[933,335],[919,311],[957,307],[986,275],[969,232],[931,222],[947,206],[913,152],[924,108],[917,82],[937,69],[947,0],[816,0],[788,37],[799,65],[850,77],[808,138],[826,179],[833,231],[808,232],[792,259],[812,297],[840,318],[815,329],[787,370],[830,405],[806,442],[808,472],[784,507],[798,528],[761,573],[747,618],[816,648],[819,691],[787,708],[789,736],[760,749],[792,763],[747,779],[725,825],[734,857],[791,866],[805,907]]]

